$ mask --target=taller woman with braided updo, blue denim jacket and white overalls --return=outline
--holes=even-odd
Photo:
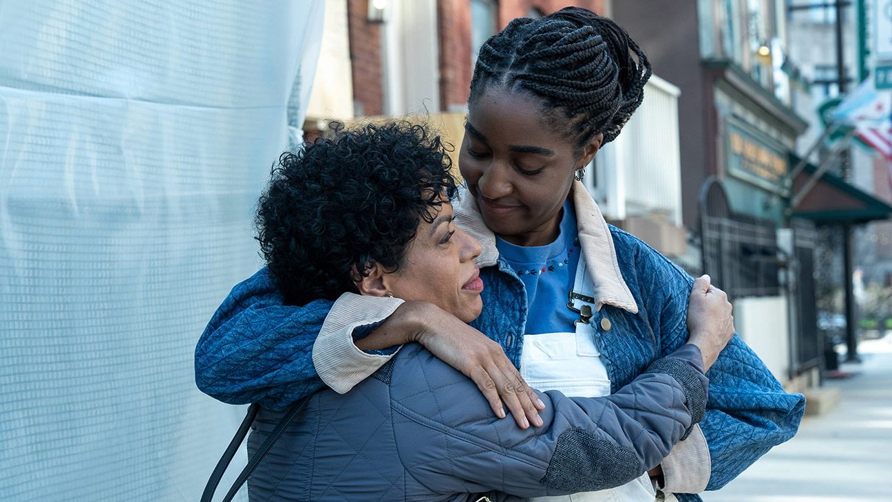
[[[539,427],[541,402],[529,386],[607,395],[695,331],[721,329],[689,311],[690,276],[608,226],[579,181],[640,105],[650,72],[624,29],[593,12],[570,7],[509,23],[480,50],[459,154],[466,183],[453,200],[455,225],[482,247],[481,316],[469,327],[429,303],[383,297],[359,309],[345,294],[322,304],[323,324],[318,302],[283,305],[281,278],[255,276],[215,316],[227,322],[202,335],[199,387],[281,409],[323,383],[349,391],[392,357],[387,348],[421,342],[474,380],[497,416],[506,416],[504,403],[519,426]],[[219,358],[233,342],[243,350]],[[704,362],[712,366],[706,417],[651,471],[656,489],[684,502],[789,440],[804,411],[802,396],[783,391],[737,336]],[[573,499],[649,501],[654,485],[645,475]]]

